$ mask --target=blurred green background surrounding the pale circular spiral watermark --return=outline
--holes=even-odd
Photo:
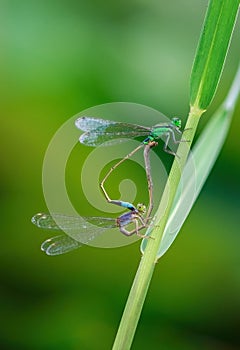
[[[139,243],[44,255],[40,244],[49,233],[30,222],[47,210],[44,153],[62,123],[101,103],[141,103],[185,120],[206,6],[186,0],[1,2],[1,349],[111,349]],[[237,28],[199,131],[234,77]],[[238,105],[199,200],[156,268],[133,349],[240,347],[239,113]]]

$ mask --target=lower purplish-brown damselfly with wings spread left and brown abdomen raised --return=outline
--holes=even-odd
[[[106,217],[74,217],[62,214],[55,214],[52,217],[50,214],[39,213],[32,217],[32,223],[39,228],[48,230],[67,230],[71,231],[71,236],[61,234],[47,239],[42,243],[41,249],[48,255],[60,255],[87,244],[104,231],[110,228],[118,227],[120,232],[126,236],[131,236],[136,233],[140,237],[146,237],[139,233],[140,230],[147,227],[150,220],[150,214],[153,208],[153,184],[149,162],[149,151],[156,143],[146,145],[144,149],[145,168],[148,182],[149,206],[145,217],[146,206],[138,204],[135,207],[133,204],[124,201],[111,200],[112,204],[119,205],[129,210],[129,212],[120,215],[118,218]],[[57,223],[55,220],[57,220]],[[128,231],[126,226],[133,223],[134,229]],[[140,224],[140,225],[139,225]],[[74,239],[76,238],[76,239]]]

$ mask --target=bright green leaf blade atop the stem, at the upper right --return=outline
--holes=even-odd
[[[206,110],[215,94],[238,7],[239,0],[210,0],[209,2],[190,80],[192,107]]]

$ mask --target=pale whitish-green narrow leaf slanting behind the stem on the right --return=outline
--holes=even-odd
[[[186,163],[157,258],[160,258],[175,240],[211,172],[226,139],[239,93],[240,66],[227,98],[201,133]],[[143,240],[142,252],[146,243],[147,240]]]

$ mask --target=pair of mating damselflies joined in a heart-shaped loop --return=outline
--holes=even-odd
[[[175,132],[182,134],[180,131],[181,120],[179,118],[173,118],[169,123],[160,123],[154,127],[145,127],[136,124],[121,123],[110,120],[104,120],[93,117],[81,117],[75,122],[78,129],[84,131],[80,136],[79,141],[87,146],[97,147],[99,145],[111,146],[113,144],[122,142],[123,139],[144,137],[143,141],[132,152],[127,154],[118,163],[116,163],[100,182],[100,187],[106,200],[115,205],[119,205],[129,211],[120,215],[117,218],[107,217],[73,217],[62,214],[54,214],[53,217],[49,214],[36,214],[32,218],[32,222],[44,229],[49,230],[72,230],[72,232],[78,231],[78,233],[71,234],[71,237],[62,233],[61,235],[52,237],[43,242],[41,249],[48,255],[59,255],[69,252],[73,249],[79,248],[83,244],[87,244],[104,231],[109,228],[118,228],[119,231],[126,235],[131,236],[136,234],[140,237],[146,237],[140,234],[139,231],[146,228],[149,225],[151,213],[153,209],[153,184],[149,160],[150,149],[158,145],[158,140],[165,136],[164,151],[175,155],[175,152],[168,148],[170,139],[175,144],[179,142],[176,139]],[[183,140],[185,141],[185,140]],[[141,148],[144,149],[144,163],[146,170],[146,177],[148,183],[149,204],[148,209],[145,205],[138,204],[134,206],[131,203],[111,199],[104,187],[104,184],[109,175],[124,161],[129,159]],[[56,224],[55,220],[58,224]],[[134,228],[128,230],[129,224],[133,224]]]

